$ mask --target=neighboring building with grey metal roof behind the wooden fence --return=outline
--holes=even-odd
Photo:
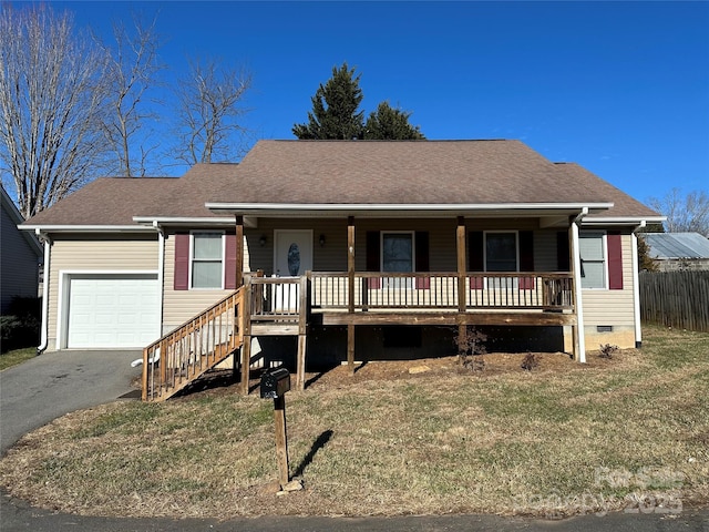
[[[646,233],[659,272],[709,270],[709,239],[699,233]]]

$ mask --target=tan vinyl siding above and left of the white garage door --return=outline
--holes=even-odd
[[[49,274],[49,348],[56,348],[61,272],[157,272],[157,234],[99,238],[83,235],[54,235]]]

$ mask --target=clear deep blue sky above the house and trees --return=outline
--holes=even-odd
[[[105,34],[158,12],[169,79],[248,66],[258,139],[294,139],[347,61],[367,114],[389,100],[428,139],[517,139],[641,201],[709,191],[709,2],[52,3]]]

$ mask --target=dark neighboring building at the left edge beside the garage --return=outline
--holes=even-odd
[[[0,235],[0,314],[6,314],[12,298],[37,297],[42,248],[32,233],[19,231],[24,218],[0,187],[2,234]]]

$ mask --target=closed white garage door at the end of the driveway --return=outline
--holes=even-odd
[[[156,275],[72,277],[68,348],[135,348],[158,338]]]

